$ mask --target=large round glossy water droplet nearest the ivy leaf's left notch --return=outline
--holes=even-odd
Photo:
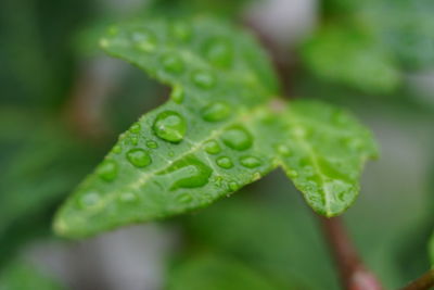
[[[153,129],[156,136],[169,142],[179,142],[187,131],[186,119],[177,112],[165,111],[155,118]]]

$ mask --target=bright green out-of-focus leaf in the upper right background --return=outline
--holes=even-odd
[[[390,92],[400,83],[388,50],[355,25],[324,27],[303,46],[302,55],[319,77],[365,92]]]

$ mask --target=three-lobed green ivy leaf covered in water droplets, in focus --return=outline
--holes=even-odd
[[[113,56],[174,87],[66,201],[58,234],[80,237],[203,207],[282,165],[318,213],[358,192],[370,134],[342,110],[275,100],[276,77],[247,34],[212,18],[113,26]]]

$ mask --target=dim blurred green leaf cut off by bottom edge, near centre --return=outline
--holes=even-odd
[[[213,254],[190,257],[168,277],[167,290],[277,290],[261,273]]]

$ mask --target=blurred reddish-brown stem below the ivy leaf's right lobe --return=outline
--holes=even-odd
[[[320,217],[324,236],[337,264],[342,286],[347,290],[381,290],[376,277],[368,270],[353,245],[340,217]]]

